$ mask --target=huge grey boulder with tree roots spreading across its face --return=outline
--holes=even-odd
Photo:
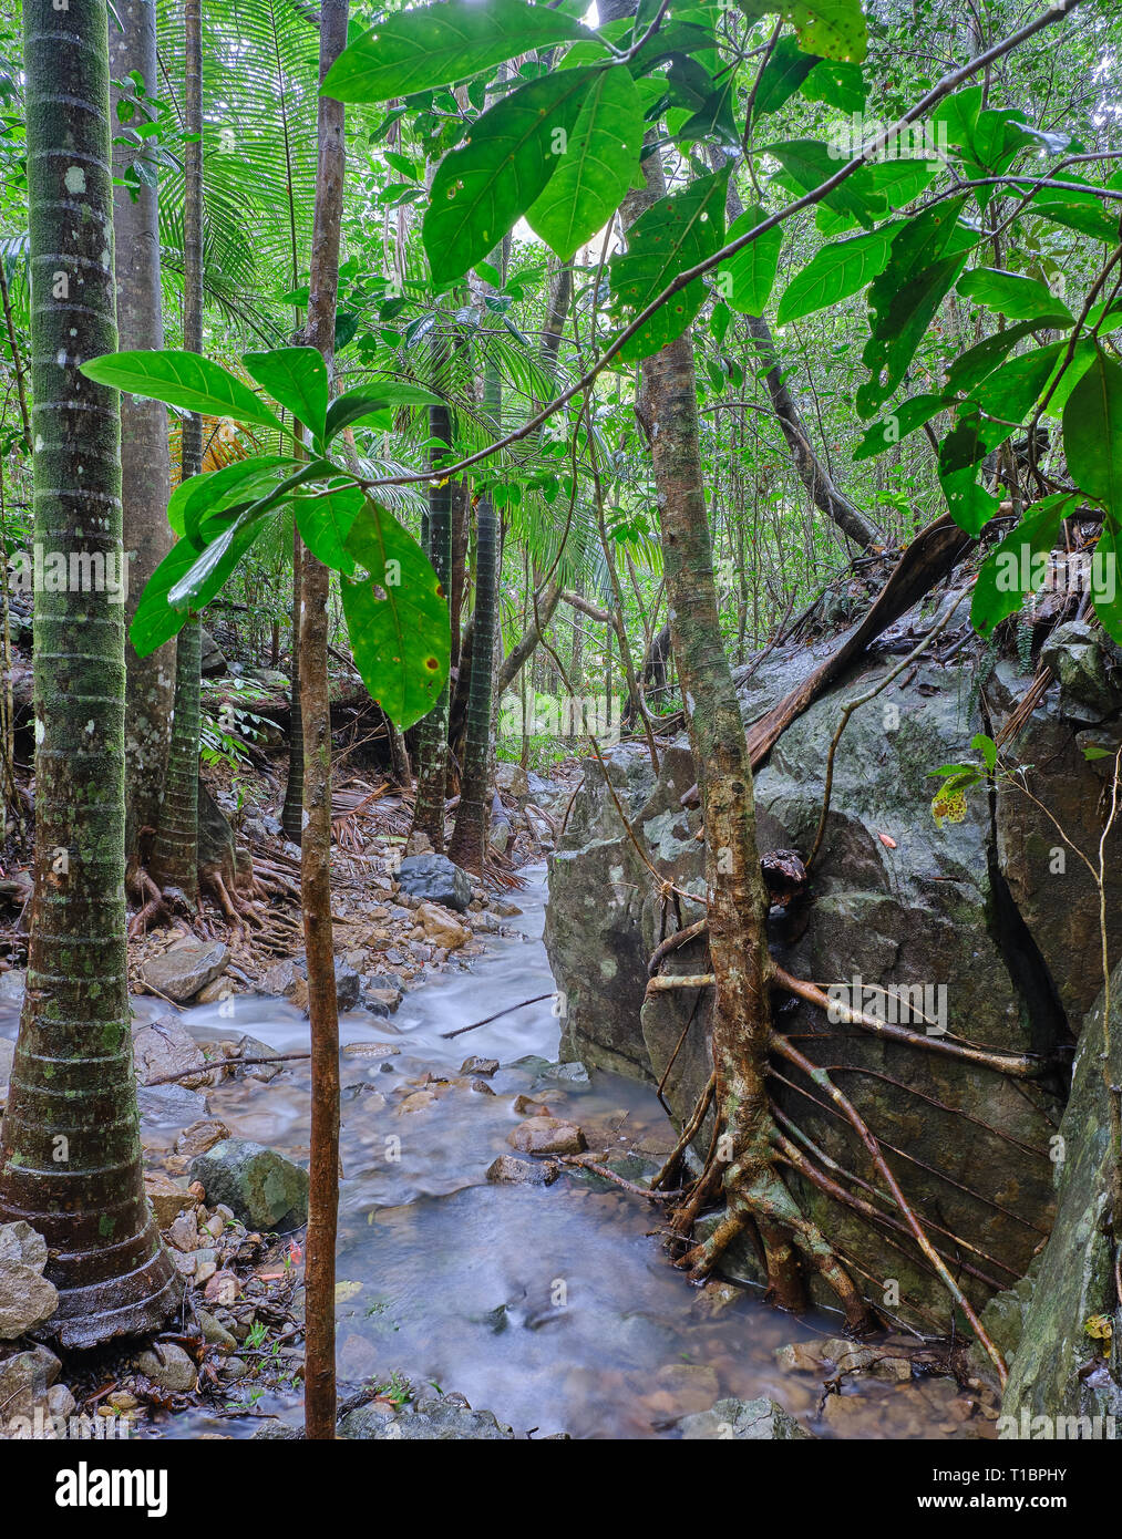
[[[756,780],[762,854],[808,853],[842,706],[883,680],[899,651],[914,645],[914,617],[911,625],[908,634],[902,622],[900,634],[887,639],[888,656],[860,662],[779,739]],[[763,716],[833,645],[779,648],[757,660],[750,676],[740,676],[745,722]],[[860,988],[865,1010],[874,1013],[888,1013],[903,990],[919,990],[913,997],[931,1020],[905,1023],[920,1036],[945,1033],[996,1050],[1051,1054],[1067,1040],[1067,1022],[1056,991],[1045,986],[1048,963],[1010,899],[990,799],[985,790],[968,797],[960,822],[940,826],[931,814],[937,786],[931,771],[971,757],[971,737],[987,725],[973,682],[971,666],[920,663],[853,713],[834,760],[810,900],[773,913],[771,948],[797,977]],[[1020,682],[1022,693],[1027,683]],[[700,894],[700,813],[682,806],[682,793],[696,780],[688,746],[682,740],[662,754],[657,782],[636,754],[633,748],[609,760],[619,800],[659,877]],[[645,999],[654,946],[677,923],[702,914],[700,905],[677,902],[680,919],[620,828],[599,766],[589,765],[549,859],[545,940],[568,1005],[563,1053],[665,1077],[663,1094],[680,1125],[711,1073],[713,1007],[708,991]],[[705,971],[705,943],[673,953],[663,971]],[[963,1287],[976,1302],[1007,1276],[1022,1274],[1048,1228],[1050,1119],[1062,1087],[1048,1082],[1025,1094],[1023,1085],[987,1068],[831,1023],[810,1005],[791,1003],[779,1019],[808,1057],[840,1065],[837,1083],[873,1131],[890,1150],[907,1151],[894,1171],[914,1207],[996,1260],[996,1267],[963,1267]],[[774,1094],[828,1160],[879,1183],[848,1125],[817,1093],[776,1080]],[[700,1154],[711,1128],[710,1117],[696,1139]],[[788,1173],[788,1180],[837,1248],[883,1279],[885,1290],[899,1291],[903,1316],[950,1320],[945,1291],[917,1259],[848,1205],[799,1176]],[[731,1276],[759,1277],[746,1240],[731,1247],[722,1265]],[[828,1299],[817,1279],[813,1291]]]

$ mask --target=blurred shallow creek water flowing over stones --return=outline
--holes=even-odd
[[[673,1437],[676,1417],[726,1394],[771,1396],[819,1428],[820,1385],[780,1371],[774,1353],[785,1342],[836,1334],[836,1316],[796,1320],[750,1293],[714,1310],[711,1296],[670,1265],[657,1233],[660,1205],[603,1180],[563,1173],[548,1188],[488,1183],[486,1168],[511,1153],[506,1139],[523,1116],[514,1110],[519,1096],[580,1123],[589,1148],[634,1154],[648,1168],[671,1139],[653,1087],[600,1071],[586,1085],[551,1074],[560,1022],[549,1000],[443,1037],[553,990],[540,939],[545,873],[523,870],[523,877],[528,885],[516,894],[523,913],[508,922],[517,933],[493,937],[471,971],[431,979],[392,1017],[357,1010],[340,1022],[340,1379],[382,1384],[399,1373],[422,1391],[456,1390],[517,1434]],[[166,1008],[135,1003],[145,1016]],[[275,1051],[308,1045],[306,1019],[260,996],[189,1010],[183,1022],[200,1042],[249,1033]],[[9,1011],[0,1034],[14,1030]],[[396,1051],[369,1056],[374,1043]],[[499,1060],[483,1082],[493,1094],[462,1079],[469,1054]],[[426,1076],[460,1083],[437,1085],[439,1099],[402,1110]],[[223,1083],[208,1099],[234,1134],[306,1160],[305,1062],[286,1065],[268,1085]],[[174,1131],[145,1119],[152,1154]],[[262,1413],[297,1424],[299,1390],[266,1390],[252,1411],[214,1417],[192,1410],[163,1419],[159,1433],[249,1436]],[[894,1436],[890,1427],[871,1434]]]

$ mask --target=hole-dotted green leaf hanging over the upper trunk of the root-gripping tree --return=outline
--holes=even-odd
[[[626,322],[640,314],[682,271],[713,255],[725,232],[725,194],[730,166],[697,177],[680,192],[659,199],[628,232],[628,249],[609,265],[613,309]],[[680,337],[705,300],[705,285],[694,279],[639,328],[620,349],[625,363],[659,352]]]

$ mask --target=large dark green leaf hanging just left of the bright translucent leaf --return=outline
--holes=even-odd
[[[440,162],[422,239],[437,288],[491,254],[560,166],[602,71],[559,69],[505,97]]]

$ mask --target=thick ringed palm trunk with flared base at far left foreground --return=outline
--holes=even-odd
[[[122,560],[105,0],[25,0],[34,539]],[[92,585],[88,585],[92,586]],[[65,1347],[163,1325],[182,1282],[145,1199],[125,950],[125,631],[102,591],[35,594],[35,894],[0,1134],[0,1216],[48,1244]]]

